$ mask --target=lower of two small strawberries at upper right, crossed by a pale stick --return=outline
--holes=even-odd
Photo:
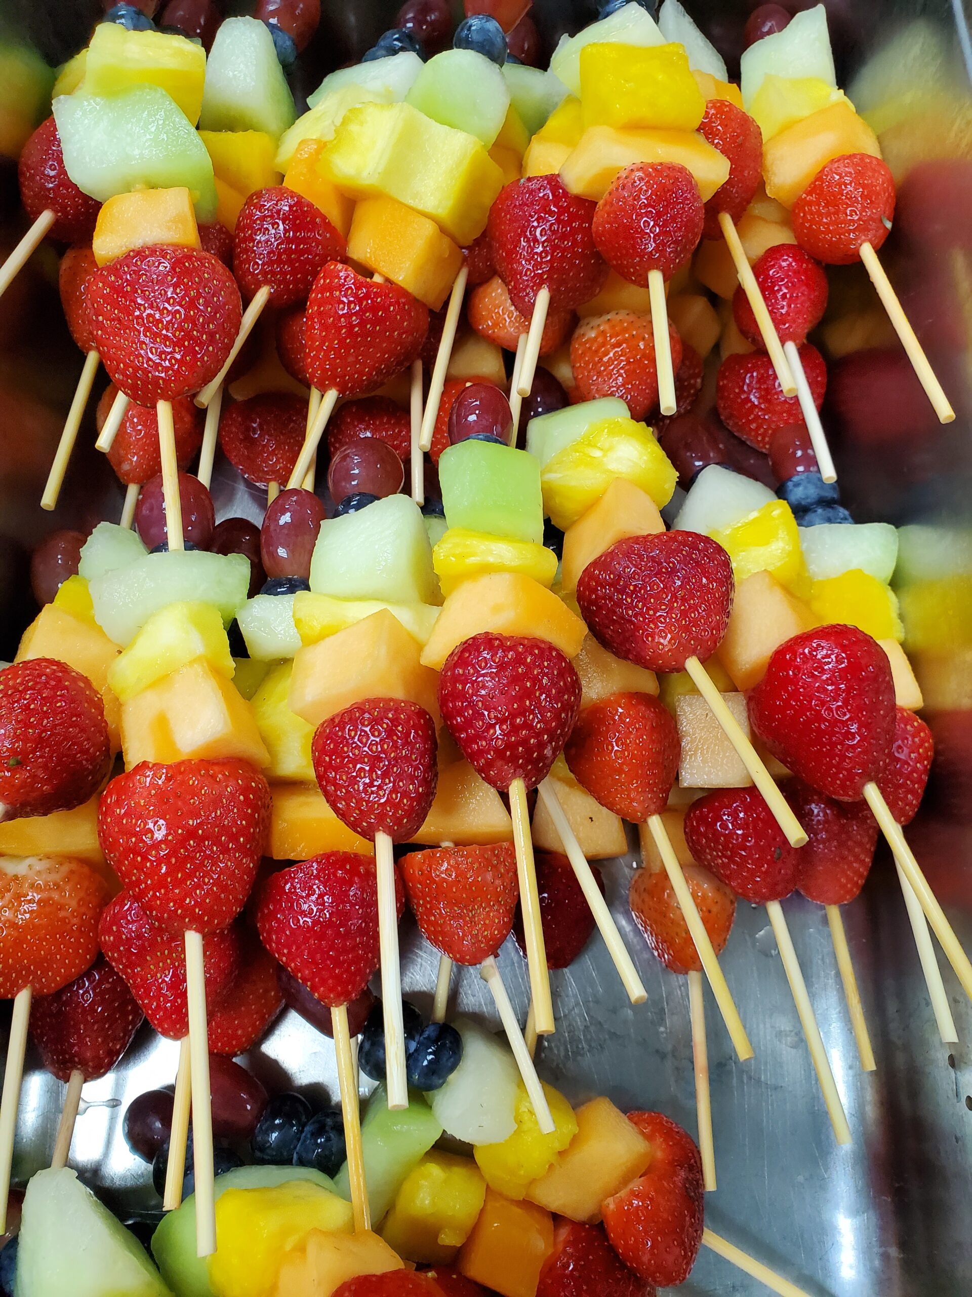
[[[800,348],[800,359],[819,410],[827,390],[827,366],[809,342]],[[715,380],[715,405],[726,427],[763,453],[769,451],[780,428],[804,424],[800,402],[783,396],[772,361],[765,351],[726,357]]]

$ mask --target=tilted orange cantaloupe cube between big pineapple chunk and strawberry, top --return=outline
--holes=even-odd
[[[463,266],[459,246],[434,220],[386,196],[362,198],[356,204],[347,235],[347,256],[404,288],[434,311],[448,297]]]

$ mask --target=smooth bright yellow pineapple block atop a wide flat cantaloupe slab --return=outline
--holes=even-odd
[[[695,131],[705,100],[682,45],[584,45],[581,51],[584,126]]]

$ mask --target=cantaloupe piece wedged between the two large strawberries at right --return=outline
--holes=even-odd
[[[770,656],[784,641],[816,624],[810,608],[769,572],[754,572],[736,585],[717,655],[736,689],[745,691],[759,684]]]

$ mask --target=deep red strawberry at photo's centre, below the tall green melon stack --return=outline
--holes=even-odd
[[[446,659],[439,708],[473,769],[505,792],[550,773],[581,706],[581,680],[546,639],[470,636]]]

